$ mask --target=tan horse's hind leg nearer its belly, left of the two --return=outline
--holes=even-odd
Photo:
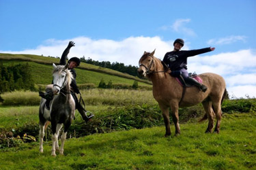
[[[205,133],[211,133],[214,127],[214,112],[212,110],[212,101],[206,100],[203,101],[202,104],[208,117],[208,128],[206,129]]]

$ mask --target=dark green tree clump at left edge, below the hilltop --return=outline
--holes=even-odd
[[[0,93],[21,89],[35,90],[29,64],[5,66],[0,63]]]

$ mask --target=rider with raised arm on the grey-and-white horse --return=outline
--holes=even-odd
[[[72,48],[73,46],[74,46],[74,42],[70,41],[68,44],[68,47],[64,50],[63,54],[61,55],[59,65],[66,65],[66,58],[68,56],[68,53],[70,52],[70,48]],[[79,103],[79,100],[76,97],[76,94],[81,94],[81,93],[80,93],[79,88],[76,86],[76,71],[74,70],[74,68],[78,67],[80,65],[81,61],[77,57],[72,57],[72,58],[70,58],[68,63],[69,63],[68,69],[70,70],[70,72],[73,75],[73,80],[72,80],[70,86],[72,88],[72,96],[74,97],[74,101],[76,102],[76,109],[78,109],[79,113],[83,117],[83,120],[85,120],[85,122],[87,122],[90,118],[94,117],[94,114],[89,114],[89,116],[87,116],[86,110],[83,108],[81,103]],[[76,93],[76,94],[74,94],[74,93]],[[50,107],[49,103],[53,99],[52,90],[46,88],[46,93],[40,92],[40,97],[43,97],[44,99],[46,99],[46,107],[49,108]]]

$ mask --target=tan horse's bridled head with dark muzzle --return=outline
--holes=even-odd
[[[154,71],[154,53],[155,50],[151,53],[144,52],[143,56],[141,56],[141,59],[139,60],[139,69],[137,70],[139,75],[146,77]]]

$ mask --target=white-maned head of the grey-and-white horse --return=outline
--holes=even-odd
[[[53,63],[53,94],[59,95],[61,88],[71,83],[72,74],[68,70],[68,64],[56,66]]]

